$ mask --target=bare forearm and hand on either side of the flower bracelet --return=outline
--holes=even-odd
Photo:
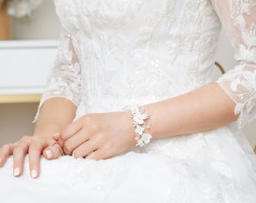
[[[154,139],[202,132],[237,119],[235,103],[217,83],[144,108],[151,115],[145,132]],[[130,112],[123,111],[81,117],[60,132],[59,144],[75,157],[106,159],[136,145],[135,138]]]

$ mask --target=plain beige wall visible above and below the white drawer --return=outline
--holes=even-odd
[[[44,0],[31,19],[12,20],[12,39],[58,39],[59,28],[53,1]],[[0,146],[32,135],[37,107],[36,103],[0,105]]]

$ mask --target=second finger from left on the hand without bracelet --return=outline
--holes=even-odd
[[[14,162],[14,177],[20,177],[23,174],[23,162],[28,152],[29,145],[26,143],[20,143],[19,146],[14,148],[13,162]]]

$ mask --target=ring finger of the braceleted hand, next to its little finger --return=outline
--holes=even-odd
[[[84,142],[73,151],[72,155],[75,156],[75,158],[88,156],[98,149],[97,144],[98,143],[93,140]]]

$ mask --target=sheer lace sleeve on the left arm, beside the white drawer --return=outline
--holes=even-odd
[[[47,90],[44,92],[38,106],[38,113],[41,105],[47,99],[53,97],[67,98],[78,106],[81,99],[80,77],[81,67],[72,45],[72,39],[65,30],[62,30],[56,60],[50,72]],[[38,113],[35,116],[35,120],[37,120]]]

